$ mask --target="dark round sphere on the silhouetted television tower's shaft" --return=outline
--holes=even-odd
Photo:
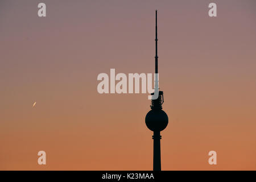
[[[152,109],[148,111],[145,122],[151,131],[162,131],[168,125],[168,116],[162,109]]]

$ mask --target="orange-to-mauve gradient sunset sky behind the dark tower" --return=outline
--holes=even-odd
[[[0,169],[152,169],[148,94],[99,94],[97,75],[154,73],[155,9],[162,169],[256,170],[255,0],[1,0]]]

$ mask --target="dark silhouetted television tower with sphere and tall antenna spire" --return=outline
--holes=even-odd
[[[155,10],[155,73],[158,74],[158,10]],[[162,110],[163,91],[158,91],[158,77],[155,76],[155,89],[159,92],[158,98],[151,100],[151,110],[148,111],[145,122],[151,131],[154,131],[152,139],[154,140],[154,156],[153,156],[153,170],[161,171],[161,152],[160,152],[160,131],[164,130],[168,125],[168,116]],[[151,93],[154,95],[154,93]]]

